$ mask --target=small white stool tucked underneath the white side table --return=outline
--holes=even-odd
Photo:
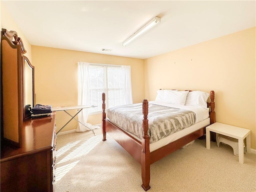
[[[220,143],[224,143],[224,144],[227,144],[227,145],[231,146],[233,148],[234,155],[239,156],[238,139],[228,137],[228,136],[224,136],[224,135],[219,135],[218,139],[217,139],[217,146],[218,147],[220,147]],[[246,153],[245,145],[244,145],[244,153]]]

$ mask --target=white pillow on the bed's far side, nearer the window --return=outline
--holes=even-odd
[[[188,91],[164,90],[164,101],[170,104],[185,105]]]

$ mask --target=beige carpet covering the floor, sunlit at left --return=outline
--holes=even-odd
[[[56,192],[143,192],[140,164],[101,130],[57,137]],[[151,165],[148,192],[256,192],[256,155],[205,140]]]

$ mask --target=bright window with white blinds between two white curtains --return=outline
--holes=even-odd
[[[102,112],[102,93],[106,94],[106,108],[124,104],[124,78],[121,66],[90,64],[89,114]]]

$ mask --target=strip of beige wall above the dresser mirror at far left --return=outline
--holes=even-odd
[[[1,3],[0,6],[1,10],[1,26],[2,28],[8,30],[8,31],[16,31],[18,33],[18,37],[22,39],[22,42],[24,44],[24,48],[27,51],[26,54],[24,54],[30,62],[32,62],[32,57],[31,57],[31,44],[28,42],[26,36],[24,36],[22,30],[19,28],[19,26],[16,24],[6,7],[4,6],[3,3]]]

